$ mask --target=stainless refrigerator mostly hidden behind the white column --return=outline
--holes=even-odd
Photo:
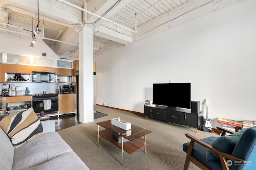
[[[79,114],[79,74],[76,75],[76,108]],[[96,73],[93,73],[93,113],[96,113]]]

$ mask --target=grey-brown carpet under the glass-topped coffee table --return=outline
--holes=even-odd
[[[189,142],[185,133],[190,133],[198,139],[209,136],[218,137],[215,133],[199,130],[198,133],[195,133],[195,129],[192,127],[169,125],[163,121],[152,118],[145,119],[142,115],[126,111],[101,106],[97,106],[97,111],[108,115],[95,119],[94,122],[80,123],[58,131],[90,170],[183,170],[186,153],[182,151],[182,145]],[[146,153],[143,150],[134,154],[124,152],[124,166],[122,166],[121,149],[102,137],[100,137],[99,148],[98,135],[95,133],[98,131],[97,122],[115,117],[120,117],[122,120],[152,131],[146,135],[146,140],[152,142],[146,147]],[[200,168],[190,163],[189,169],[199,170]]]

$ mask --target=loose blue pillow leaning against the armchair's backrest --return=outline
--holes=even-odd
[[[215,139],[210,145],[222,152],[227,154],[232,154],[236,144],[238,143],[240,137],[244,133],[245,129],[242,131],[238,131],[233,133],[232,135],[228,136],[220,136]],[[206,160],[219,160],[220,157],[217,153],[213,152],[212,150],[207,149],[206,151]]]

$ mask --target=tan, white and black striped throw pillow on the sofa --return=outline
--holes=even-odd
[[[25,111],[5,116],[0,121],[0,127],[8,135],[14,148],[44,133],[42,124],[32,107]]]

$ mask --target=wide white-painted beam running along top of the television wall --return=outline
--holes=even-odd
[[[134,41],[154,35],[186,21],[193,20],[209,12],[218,10],[239,0],[190,0],[140,26],[134,35]]]

